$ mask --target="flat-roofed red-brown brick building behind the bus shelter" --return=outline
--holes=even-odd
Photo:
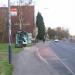
[[[17,9],[17,15],[11,17],[12,23],[12,41],[15,41],[15,33],[20,30],[20,17],[22,30],[32,33],[33,38],[35,37],[35,16],[34,6],[12,6],[11,8]],[[21,16],[20,16],[21,15]],[[3,34],[6,32],[6,35]],[[8,40],[8,8],[0,8],[0,40]],[[4,37],[3,37],[4,36]]]

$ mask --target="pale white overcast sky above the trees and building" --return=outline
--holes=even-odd
[[[36,12],[41,12],[46,27],[64,27],[75,35],[75,0],[34,0]],[[8,0],[0,0],[0,6]]]

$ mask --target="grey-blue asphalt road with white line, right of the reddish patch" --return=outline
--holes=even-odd
[[[47,60],[61,75],[75,75],[75,43],[69,41],[50,42],[50,47],[59,60]]]

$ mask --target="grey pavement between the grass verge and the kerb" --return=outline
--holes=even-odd
[[[40,61],[36,47],[26,47],[13,59],[13,75],[59,75],[52,66]]]

